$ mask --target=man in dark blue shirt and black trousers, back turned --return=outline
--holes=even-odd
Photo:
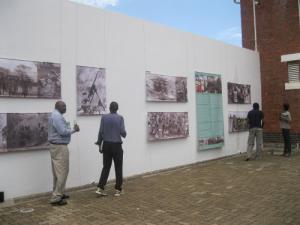
[[[98,140],[96,142],[99,145],[100,153],[103,153],[103,169],[96,194],[107,195],[104,188],[107,183],[112,160],[114,160],[116,172],[115,196],[120,196],[123,183],[123,149],[121,137],[126,137],[126,131],[123,117],[117,114],[118,103],[111,102],[109,110],[110,113],[103,115],[101,118]]]

